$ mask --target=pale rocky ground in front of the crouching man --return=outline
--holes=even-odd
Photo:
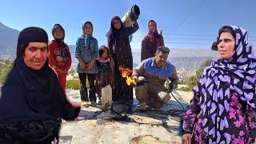
[[[192,92],[174,91],[175,98],[186,107]],[[71,102],[80,102],[78,90],[67,90]],[[181,143],[178,135],[182,106],[172,96],[161,110],[142,113],[133,105],[114,103],[113,110],[101,106],[82,107],[74,122],[63,122],[60,143]]]

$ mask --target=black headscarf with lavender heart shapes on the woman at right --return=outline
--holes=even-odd
[[[223,26],[218,38],[224,28],[234,32],[233,56],[211,62],[206,66],[198,86],[194,87],[194,93],[200,97],[202,129],[210,138],[216,138],[215,134],[219,138],[223,127],[229,126],[227,115],[234,94],[244,105],[256,107],[256,57],[248,42],[248,33],[239,26]]]

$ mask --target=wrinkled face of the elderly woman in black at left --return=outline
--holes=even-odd
[[[30,42],[25,49],[24,62],[32,70],[40,70],[47,59],[47,43]]]

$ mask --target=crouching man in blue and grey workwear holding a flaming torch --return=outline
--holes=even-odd
[[[159,109],[169,102],[169,92],[178,86],[175,66],[167,62],[169,52],[168,47],[159,46],[153,58],[147,58],[134,69],[132,77],[137,83],[135,94],[139,102],[138,110],[145,111],[146,105]],[[167,78],[171,81],[168,88],[164,86]]]

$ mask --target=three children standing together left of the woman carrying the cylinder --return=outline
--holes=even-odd
[[[107,46],[100,46],[92,36],[93,25],[85,22],[82,26],[82,36],[76,42],[75,58],[78,59],[78,76],[80,79],[80,95],[84,106],[96,105],[96,94],[98,104],[101,105],[102,87],[111,85],[112,74],[109,49]],[[58,76],[58,80],[64,92],[66,91],[66,75],[71,66],[71,55],[69,47],[64,42],[65,30],[60,24],[55,24],[52,30],[54,40],[49,44],[49,64]],[[86,86],[86,79],[90,84],[89,97]],[[96,82],[95,82],[96,81]]]

